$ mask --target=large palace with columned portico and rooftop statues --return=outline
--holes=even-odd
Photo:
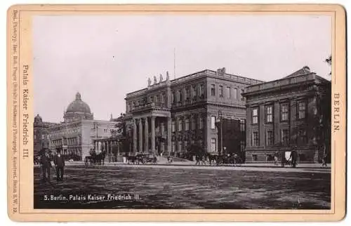
[[[255,79],[201,72],[170,80],[162,75],[147,88],[126,95],[127,133],[133,152],[156,152],[183,157],[190,145],[218,152],[218,119],[246,119],[244,88]]]

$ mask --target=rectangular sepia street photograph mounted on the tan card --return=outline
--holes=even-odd
[[[329,15],[36,15],[34,209],[331,209]]]

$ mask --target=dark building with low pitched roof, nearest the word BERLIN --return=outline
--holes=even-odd
[[[283,79],[248,86],[243,96],[246,162],[272,161],[274,154],[289,159],[292,147],[300,162],[330,154],[330,81],[303,67]]]

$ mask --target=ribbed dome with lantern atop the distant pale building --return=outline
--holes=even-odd
[[[88,104],[81,100],[81,94],[76,94],[76,99],[73,100],[67,107],[63,116],[65,121],[73,121],[74,119],[93,119],[93,114]]]

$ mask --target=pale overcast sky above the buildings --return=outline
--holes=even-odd
[[[62,121],[77,91],[95,119],[125,112],[126,93],[147,78],[225,67],[253,79],[280,79],[307,65],[327,77],[329,16],[36,16],[34,113]]]

